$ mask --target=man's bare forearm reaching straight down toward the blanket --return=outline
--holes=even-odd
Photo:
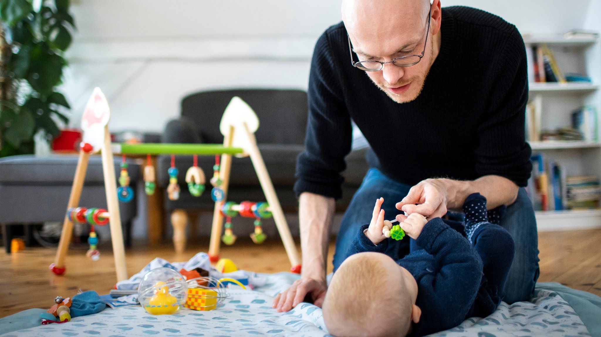
[[[299,197],[302,276],[326,277],[329,229],[334,218],[334,198],[303,192]]]

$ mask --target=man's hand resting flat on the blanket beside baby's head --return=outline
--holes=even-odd
[[[326,290],[328,290],[328,285],[326,285],[325,280],[297,279],[288,289],[275,297],[272,307],[277,309],[278,312],[289,311],[303,302],[305,296],[310,295],[313,304],[321,308],[323,299],[326,297]]]

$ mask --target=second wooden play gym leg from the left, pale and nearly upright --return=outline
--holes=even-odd
[[[123,231],[121,228],[121,213],[117,198],[117,178],[115,178],[115,163],[111,149],[111,134],[105,126],[105,143],[102,146],[102,172],[105,178],[106,204],[111,214],[111,241],[117,270],[117,282],[127,279],[127,266],[125,263],[125,248],[123,246]]]

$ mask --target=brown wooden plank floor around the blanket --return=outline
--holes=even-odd
[[[208,240],[207,240],[208,241]],[[601,296],[601,229],[539,233],[540,278],[555,281]],[[104,248],[104,249],[103,249]],[[168,261],[186,261],[208,245],[189,245],[184,254],[175,254],[172,246],[135,245],[127,251],[130,275],[142,269],[155,257]],[[49,308],[56,296],[73,296],[78,289],[96,290],[106,294],[115,284],[114,261],[110,245],[100,248],[100,261],[85,257],[85,249],[71,250],[67,258],[67,273],[55,276],[48,270],[55,250],[28,248],[14,254],[0,252],[0,317],[28,308]],[[329,250],[331,272],[334,244]],[[240,269],[275,273],[288,271],[287,255],[279,240],[273,238],[263,245],[239,239],[234,246],[225,246],[222,257],[236,262]]]

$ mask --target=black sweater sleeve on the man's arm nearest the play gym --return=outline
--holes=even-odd
[[[308,88],[308,121],[305,151],[296,161],[294,192],[312,192],[341,198],[346,169],[344,157],[350,152],[352,126],[344,104],[340,62],[332,55],[328,31],[317,40]]]

